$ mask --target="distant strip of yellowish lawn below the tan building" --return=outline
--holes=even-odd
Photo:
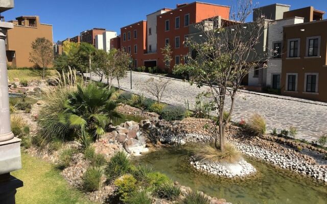
[[[55,75],[55,70],[46,70],[45,75],[51,76]],[[41,80],[42,79],[42,70],[30,70],[30,69],[10,69],[8,70],[9,81],[14,81],[14,78],[19,80]]]

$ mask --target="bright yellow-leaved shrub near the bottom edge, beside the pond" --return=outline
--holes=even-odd
[[[127,201],[132,197],[133,192],[136,190],[136,179],[130,175],[123,175],[121,178],[114,182],[117,187],[116,193],[119,195],[121,201]]]

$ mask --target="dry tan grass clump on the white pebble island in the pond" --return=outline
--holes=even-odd
[[[214,144],[205,144],[197,150],[195,158],[205,163],[233,163],[239,161],[241,153],[230,143],[225,144],[224,151],[217,149]]]

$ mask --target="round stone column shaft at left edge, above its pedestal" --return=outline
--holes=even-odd
[[[13,25],[8,22],[0,22],[0,25],[0,142],[4,142],[14,138],[10,126],[6,56],[6,33]]]

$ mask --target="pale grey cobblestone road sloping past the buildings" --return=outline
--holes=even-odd
[[[130,73],[128,73],[126,78],[120,80],[121,88],[135,94],[142,93],[146,97],[155,99],[144,90],[144,82],[151,77],[158,79],[152,74],[132,72],[132,89],[130,89]],[[93,75],[92,79],[99,81],[96,75]],[[106,83],[106,80],[103,82]],[[113,85],[118,86],[116,80],[113,81]],[[184,106],[185,100],[188,100],[192,106],[197,94],[206,89],[208,89],[206,86],[197,88],[195,85],[191,86],[189,83],[172,79],[162,97],[162,102]],[[281,131],[292,125],[298,131],[296,138],[309,141],[316,140],[322,134],[327,133],[327,104],[312,103],[315,102],[291,97],[275,98],[274,95],[269,94],[258,95],[251,92],[239,92],[232,121],[240,121],[242,118],[246,120],[252,113],[259,113],[265,116],[269,132],[274,127]],[[227,101],[228,106],[229,104],[230,102]]]

